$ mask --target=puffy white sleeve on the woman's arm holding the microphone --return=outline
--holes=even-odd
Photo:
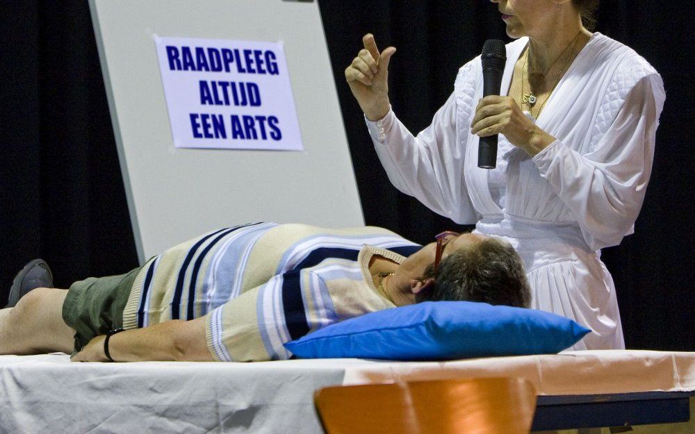
[[[579,222],[592,249],[619,244],[644,201],[659,117],[661,77],[641,78],[595,147],[584,155],[556,140],[533,161]]]

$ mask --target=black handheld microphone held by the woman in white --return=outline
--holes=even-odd
[[[499,95],[502,87],[502,74],[507,63],[507,49],[505,42],[498,39],[489,39],[482,46],[482,96]],[[478,167],[482,169],[494,169],[497,165],[497,138],[498,135],[480,137],[478,145]]]

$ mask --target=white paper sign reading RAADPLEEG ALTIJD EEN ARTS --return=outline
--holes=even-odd
[[[281,43],[154,41],[175,147],[303,149]]]

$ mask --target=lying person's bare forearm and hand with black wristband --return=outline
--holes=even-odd
[[[117,362],[177,360],[211,362],[205,337],[205,318],[190,321],[172,320],[145,328],[134,328],[112,335],[108,352]],[[104,353],[106,336],[97,336],[73,358],[73,362],[107,362]]]

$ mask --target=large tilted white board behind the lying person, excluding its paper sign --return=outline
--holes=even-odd
[[[247,222],[364,224],[318,3],[90,0],[140,262]],[[155,37],[281,42],[303,151],[174,147]]]

